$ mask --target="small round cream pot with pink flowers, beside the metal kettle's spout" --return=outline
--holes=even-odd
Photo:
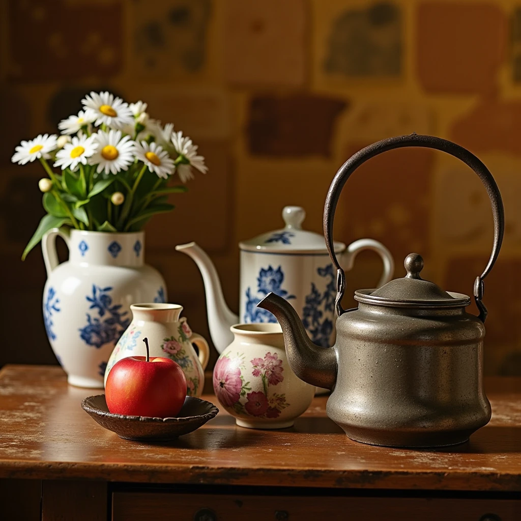
[[[291,370],[278,324],[238,324],[219,356],[214,390],[237,425],[253,429],[291,427],[309,407],[315,387]]]

